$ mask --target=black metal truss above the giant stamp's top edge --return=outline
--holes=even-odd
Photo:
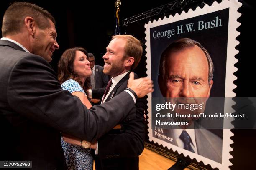
[[[123,26],[127,26],[128,24],[144,20],[146,18],[151,18],[156,15],[161,15],[164,13],[168,13],[171,10],[182,10],[183,7],[190,5],[194,2],[197,2],[198,0],[175,0],[173,2],[170,2],[168,4],[162,5],[160,7],[156,7],[154,9],[148,10],[144,13],[140,13],[138,15],[134,15],[129,18],[125,18],[122,20]]]

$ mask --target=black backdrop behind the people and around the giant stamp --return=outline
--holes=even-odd
[[[17,0],[16,0],[17,1]],[[197,0],[195,0],[197,1]],[[10,2],[0,2],[0,18],[2,20],[3,14]],[[23,1],[24,2],[24,1]],[[94,53],[96,57],[96,64],[103,65],[102,56],[105,54],[105,47],[107,47],[110,36],[115,31],[115,0],[105,1],[54,1],[54,0],[27,0],[25,2],[36,3],[37,5],[48,10],[56,19],[56,30],[58,33],[57,41],[60,49],[56,50],[53,55],[53,60],[50,63],[54,70],[56,70],[59,57],[69,47],[82,46],[88,52]],[[152,8],[169,3],[170,0],[121,0],[121,19],[131,17],[133,15],[145,12]],[[127,27],[122,28],[122,33],[134,35],[142,42],[145,42],[144,24],[148,20],[157,19],[164,15],[180,13],[182,10],[187,11],[190,7],[195,9],[196,6],[202,6],[202,2],[212,4],[212,0],[198,0],[192,6],[184,6],[180,10],[163,13],[156,17],[141,20],[137,23],[132,23]],[[220,0],[218,0],[220,2]],[[243,6],[238,10],[242,16],[238,18],[241,26],[237,29],[241,34],[236,38],[240,44],[236,47],[239,53],[236,58],[239,60],[235,65],[238,71],[235,75],[238,77],[234,83],[237,85],[233,90],[237,97],[256,97],[256,86],[254,83],[255,77],[255,2],[253,0],[240,0]],[[0,26],[2,26],[0,24]],[[145,46],[143,46],[145,49]],[[146,76],[146,57],[145,51],[141,63],[136,68],[135,72],[139,76]],[[157,83],[157,82],[155,82]],[[231,139],[234,144],[231,145],[234,151],[231,152],[233,159],[231,162],[232,170],[255,169],[255,153],[256,153],[256,130],[231,130],[235,135]],[[209,166],[208,166],[209,167]]]

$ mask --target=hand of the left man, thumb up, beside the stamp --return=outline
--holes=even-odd
[[[127,87],[132,89],[138,96],[138,98],[144,97],[149,92],[153,92],[153,82],[149,78],[134,79],[134,73],[130,73]]]

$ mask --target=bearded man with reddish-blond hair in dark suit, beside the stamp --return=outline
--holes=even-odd
[[[132,35],[112,37],[107,52],[102,57],[105,65],[103,72],[110,75],[110,88],[105,92],[102,103],[110,102],[127,88],[129,72],[141,60],[141,42]],[[124,108],[125,109],[125,108]],[[139,158],[144,148],[144,111],[146,98],[136,101],[136,119],[122,121],[109,133],[103,135],[92,145],[96,149],[96,170],[138,170]]]

